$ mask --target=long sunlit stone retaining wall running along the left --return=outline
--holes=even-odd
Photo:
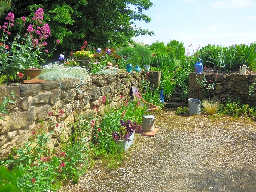
[[[147,78],[157,87],[160,76],[160,72],[150,72]],[[117,102],[121,95],[129,97],[131,86],[139,88],[144,77],[142,72],[91,75],[79,88],[78,79],[1,85],[0,101],[3,96],[11,96],[13,90],[16,103],[8,105],[9,114],[0,114],[4,117],[0,120],[0,159],[7,157],[13,148],[22,147],[33,131],[41,129],[41,121],[43,129],[48,127],[47,133],[53,130],[49,147],[57,149],[68,140],[72,123],[80,115],[88,114],[102,96],[111,103]],[[62,116],[60,110],[64,111]]]

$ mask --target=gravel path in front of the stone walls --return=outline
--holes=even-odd
[[[155,137],[135,135],[116,169],[100,162],[64,191],[255,192],[256,123],[247,118],[156,115]]]

